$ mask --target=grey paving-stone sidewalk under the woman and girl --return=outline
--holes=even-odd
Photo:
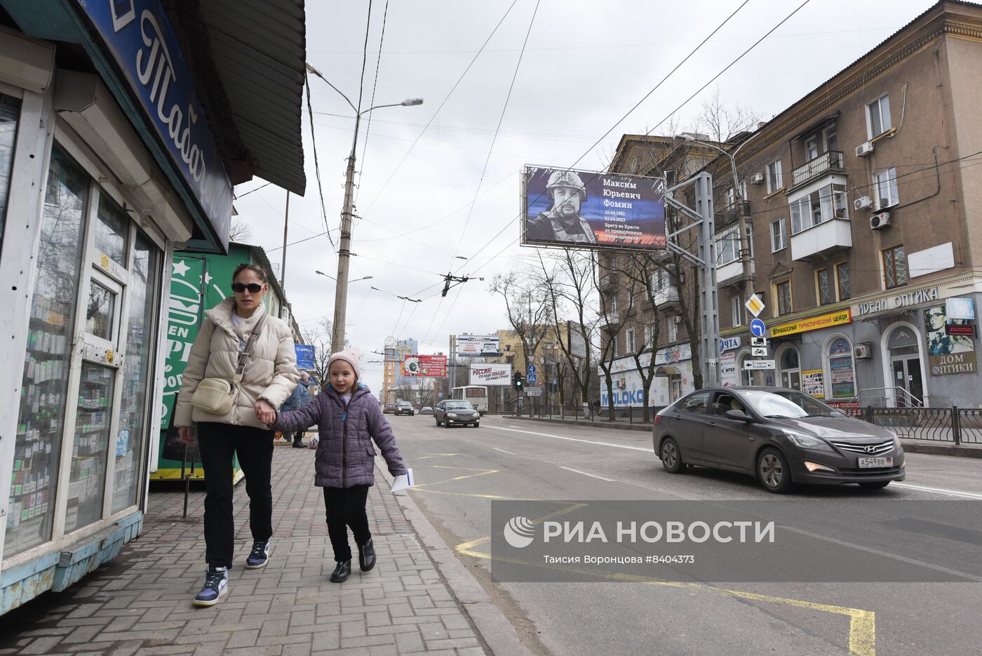
[[[329,581],[313,455],[274,450],[274,551],[262,570],[243,566],[251,536],[237,486],[237,564],[218,605],[191,605],[204,580],[203,490],[191,490],[186,520],[183,490],[152,489],[143,532],[117,559],[0,617],[0,655],[490,653],[378,472],[368,495],[378,565],[361,574],[355,563],[347,581]]]

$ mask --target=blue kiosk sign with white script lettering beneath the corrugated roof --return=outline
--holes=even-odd
[[[232,185],[191,72],[158,0],[79,0],[221,241],[229,242]]]

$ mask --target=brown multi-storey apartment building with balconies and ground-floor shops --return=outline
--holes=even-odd
[[[982,7],[939,2],[756,132],[694,145],[729,153],[705,167],[724,384],[779,385],[832,403],[977,405],[980,101]],[[629,169],[630,157],[626,148],[615,165]],[[766,304],[776,365],[754,377],[743,368],[751,291]],[[619,349],[643,327],[636,316],[619,324]],[[666,307],[656,353],[687,338],[668,333],[672,316]]]

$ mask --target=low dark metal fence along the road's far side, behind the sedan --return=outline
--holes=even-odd
[[[649,423],[657,408],[652,408]],[[874,406],[841,407],[849,416],[889,428],[905,440],[926,440],[959,444],[982,444],[982,409],[979,408],[879,408]],[[585,420],[597,423],[617,422],[642,424],[640,408],[617,408],[611,419],[606,406],[577,406],[575,408],[547,404],[525,403],[520,408],[506,405],[508,414],[547,419]]]

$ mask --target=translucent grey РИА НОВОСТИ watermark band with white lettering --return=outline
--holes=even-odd
[[[495,501],[499,581],[982,581],[982,502]]]

